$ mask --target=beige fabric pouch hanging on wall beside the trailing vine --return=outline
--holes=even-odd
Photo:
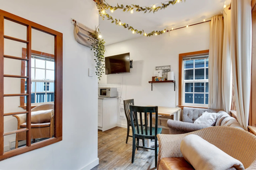
[[[91,41],[89,40],[89,38],[91,38],[90,34],[93,32],[94,30],[86,27],[85,25],[82,25],[77,21],[75,22],[74,36],[75,40],[77,40],[77,42],[79,42],[80,44],[91,47]]]

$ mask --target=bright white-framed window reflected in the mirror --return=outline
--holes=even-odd
[[[31,105],[54,103],[54,64],[54,58],[32,55]],[[27,82],[25,82],[25,91],[26,87]]]

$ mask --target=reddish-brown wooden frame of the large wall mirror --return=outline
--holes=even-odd
[[[31,31],[36,29],[46,34],[55,36],[55,119],[54,119],[54,137],[46,139],[38,143],[31,144],[31,105],[27,105],[27,135],[26,135],[26,146],[4,152],[4,19],[16,22],[18,24],[27,27],[27,73],[31,72]],[[63,35],[62,33],[53,29],[44,27],[30,20],[26,20],[12,13],[0,10],[0,161],[9,157],[14,157],[31,150],[42,148],[44,146],[62,141],[62,76],[63,76]],[[31,82],[31,76],[27,78],[28,82]],[[27,94],[31,96],[30,86],[27,86]],[[27,98],[27,103],[31,103],[30,98]]]

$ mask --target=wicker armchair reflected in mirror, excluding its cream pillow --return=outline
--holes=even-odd
[[[41,110],[54,110],[54,104],[44,104],[34,107],[31,112],[37,112]],[[42,112],[44,113],[44,112]],[[54,135],[54,111],[51,111],[51,118],[46,123],[31,123],[31,139],[37,138],[51,138]],[[26,128],[26,114],[14,115],[18,121],[18,130]],[[18,141],[26,140],[26,132],[20,132],[16,134],[16,145],[18,148]]]

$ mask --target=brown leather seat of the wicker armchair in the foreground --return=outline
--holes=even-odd
[[[183,157],[181,158],[163,158],[160,161],[163,170],[194,170]]]

